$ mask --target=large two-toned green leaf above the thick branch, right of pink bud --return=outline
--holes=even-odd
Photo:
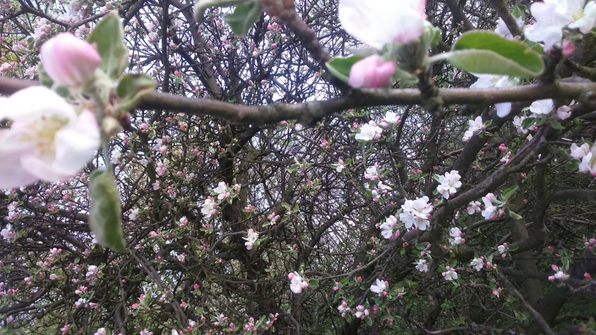
[[[544,71],[544,61],[538,52],[492,31],[463,34],[444,57],[471,73],[534,78]]]

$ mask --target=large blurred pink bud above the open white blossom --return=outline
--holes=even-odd
[[[93,80],[101,57],[94,45],[64,33],[41,46],[41,63],[55,83],[72,86]]]

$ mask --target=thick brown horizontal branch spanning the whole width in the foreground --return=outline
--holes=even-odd
[[[12,94],[36,82],[0,78],[0,94]],[[596,83],[555,83],[553,85],[525,85],[510,88],[470,90],[446,88],[439,90],[445,104],[490,105],[506,101],[534,101],[538,99],[578,99],[596,92]],[[298,120],[312,124],[322,117],[350,108],[387,105],[421,104],[424,98],[416,89],[360,90],[326,101],[302,104],[271,104],[268,106],[240,106],[212,99],[180,97],[152,92],[141,99],[140,109],[164,109],[176,113],[211,115],[243,124],[273,124],[282,120]]]

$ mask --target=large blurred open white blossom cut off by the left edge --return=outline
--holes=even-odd
[[[0,189],[69,180],[99,146],[93,113],[77,114],[46,87],[20,90],[0,105],[0,120],[12,121],[0,129]]]

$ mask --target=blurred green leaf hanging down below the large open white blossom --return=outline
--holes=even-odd
[[[89,225],[99,244],[114,251],[125,250],[120,193],[112,171],[96,170],[89,178],[91,207]]]

